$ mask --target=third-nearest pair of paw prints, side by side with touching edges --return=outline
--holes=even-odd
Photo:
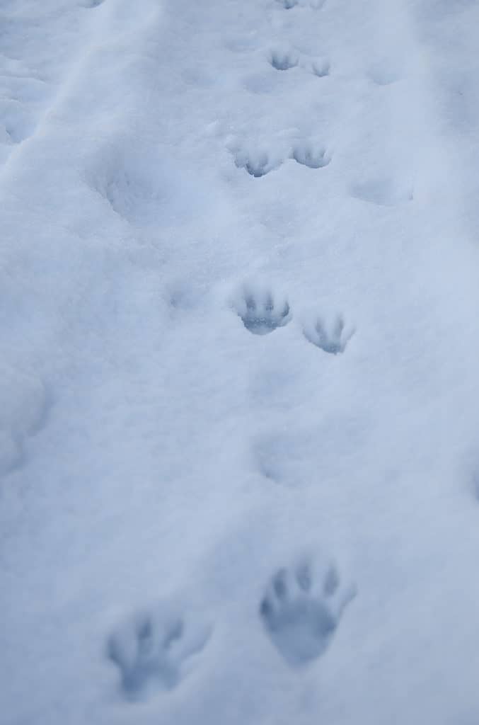
[[[310,169],[320,169],[331,161],[325,147],[314,141],[299,141],[286,154],[262,146],[243,146],[230,150],[236,167],[246,170],[254,178],[261,178],[278,169],[288,159]]]

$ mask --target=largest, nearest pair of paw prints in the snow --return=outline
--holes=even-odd
[[[344,586],[336,566],[315,573],[312,562],[272,574],[258,614],[272,645],[297,668],[325,653],[346,605],[356,594]],[[145,700],[179,687],[201,662],[212,626],[170,607],[135,614],[107,639],[107,658],[119,677],[122,697]]]

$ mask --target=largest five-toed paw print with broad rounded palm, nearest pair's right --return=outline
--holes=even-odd
[[[354,585],[341,586],[335,566],[317,578],[306,561],[275,572],[259,616],[280,655],[290,666],[301,667],[325,652],[355,595]]]

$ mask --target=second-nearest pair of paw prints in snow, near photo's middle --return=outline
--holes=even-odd
[[[233,299],[233,309],[254,335],[267,335],[278,327],[286,326],[293,317],[286,297],[275,295],[267,288],[246,285]],[[303,334],[323,352],[338,355],[346,349],[354,328],[346,326],[342,315],[328,322],[316,317],[303,327]]]

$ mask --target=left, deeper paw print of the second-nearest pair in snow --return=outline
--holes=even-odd
[[[288,300],[273,297],[268,289],[245,286],[234,304],[243,325],[254,335],[267,335],[291,320]]]

